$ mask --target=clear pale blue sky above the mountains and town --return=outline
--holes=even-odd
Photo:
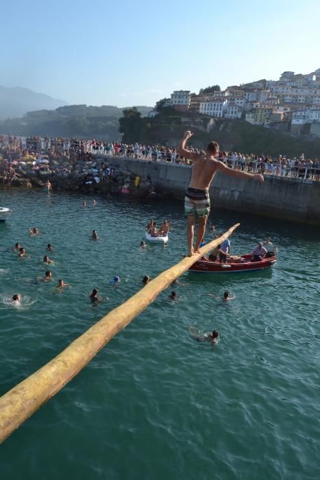
[[[16,0],[1,5],[0,85],[69,104],[148,105],[320,68],[320,1]]]

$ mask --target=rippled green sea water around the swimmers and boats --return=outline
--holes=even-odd
[[[14,208],[0,224],[0,394],[186,252],[182,202],[97,200],[0,190]],[[171,221],[169,244],[140,250],[150,218]],[[180,278],[177,301],[161,293],[0,446],[1,479],[319,480],[319,230],[214,208],[210,219],[219,232],[241,221],[234,254],[271,236],[277,265]],[[47,243],[51,283],[40,280]],[[59,278],[71,288],[57,293]],[[93,288],[109,300],[90,304]],[[208,296],[226,289],[229,304]],[[214,328],[214,347],[190,333]]]

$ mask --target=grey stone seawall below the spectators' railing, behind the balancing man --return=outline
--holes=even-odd
[[[136,175],[149,175],[156,188],[173,197],[183,198],[190,180],[188,165],[121,157],[106,157],[106,160]],[[261,184],[217,173],[210,196],[220,208],[320,226],[320,182],[265,176]]]

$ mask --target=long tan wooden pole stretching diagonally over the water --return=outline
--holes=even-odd
[[[0,443],[71,381],[99,350],[145,310],[162,290],[169,287],[173,280],[186,272],[201,256],[230,237],[238,226],[239,224],[234,225],[219,239],[204,245],[201,253],[188,256],[162,272],[129,300],[101,318],[57,357],[4,394],[0,398]]]

